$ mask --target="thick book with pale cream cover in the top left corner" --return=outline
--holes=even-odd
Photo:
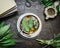
[[[17,5],[14,0],[0,0],[0,18],[17,11]]]

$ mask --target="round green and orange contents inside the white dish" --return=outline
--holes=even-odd
[[[34,33],[39,27],[39,22],[36,17],[28,15],[21,21],[21,30],[26,34]]]

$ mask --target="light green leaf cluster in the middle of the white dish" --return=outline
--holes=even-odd
[[[27,17],[24,17],[22,20],[22,26],[24,27],[24,29],[29,32],[30,29],[33,27],[34,25],[34,21],[32,19],[32,17],[29,17],[29,20],[27,20]]]

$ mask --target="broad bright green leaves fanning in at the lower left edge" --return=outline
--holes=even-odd
[[[13,33],[10,33],[10,25],[0,23],[0,48],[15,45],[15,39],[12,39]]]

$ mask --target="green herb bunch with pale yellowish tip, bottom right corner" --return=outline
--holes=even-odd
[[[60,33],[57,35],[54,35],[54,38],[51,40],[39,40],[37,39],[37,41],[40,44],[47,44],[47,45],[51,45],[54,48],[60,48]]]

